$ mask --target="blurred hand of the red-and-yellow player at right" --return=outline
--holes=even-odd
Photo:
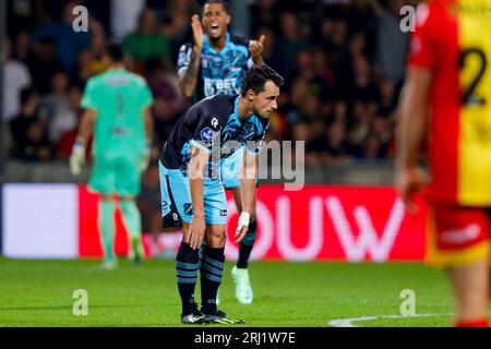
[[[400,198],[409,214],[415,215],[418,212],[412,196],[419,192],[424,184],[424,172],[419,167],[399,169],[396,174],[396,185]]]

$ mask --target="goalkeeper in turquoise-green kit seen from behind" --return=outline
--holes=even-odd
[[[88,80],[81,103],[85,111],[70,157],[71,172],[79,174],[94,132],[88,189],[100,194],[98,225],[105,252],[103,266],[108,269],[118,265],[113,251],[116,200],[130,237],[129,258],[137,263],[143,257],[135,197],[141,190],[141,173],[151,159],[153,137],[152,93],[143,77],[124,69],[123,57],[122,46],[110,44],[105,57],[108,70]]]

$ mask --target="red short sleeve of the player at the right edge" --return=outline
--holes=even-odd
[[[431,37],[430,7],[422,3],[416,11],[416,28],[410,38],[409,67],[433,67],[435,46]]]

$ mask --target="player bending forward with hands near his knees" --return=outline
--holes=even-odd
[[[160,157],[164,226],[182,225],[176,257],[182,301],[181,322],[241,323],[227,318],[216,306],[225,261],[227,200],[219,180],[220,159],[243,146],[241,207],[236,242],[247,236],[255,196],[258,155],[270,127],[270,116],[283,77],[267,65],[251,68],[240,95],[217,95],[192,106],[178,121]],[[200,261],[200,246],[203,249]],[[201,262],[201,263],[200,263]],[[201,272],[201,311],[194,301]]]

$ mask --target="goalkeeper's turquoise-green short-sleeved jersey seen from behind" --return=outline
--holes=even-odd
[[[93,156],[139,158],[145,148],[142,109],[152,104],[145,80],[124,69],[89,79],[81,106],[97,111]]]

